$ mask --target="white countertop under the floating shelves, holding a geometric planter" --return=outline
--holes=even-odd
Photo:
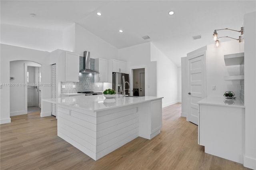
[[[225,99],[224,97],[206,97],[197,102],[201,105],[216,105],[227,107],[244,107],[244,103],[240,99]]]

